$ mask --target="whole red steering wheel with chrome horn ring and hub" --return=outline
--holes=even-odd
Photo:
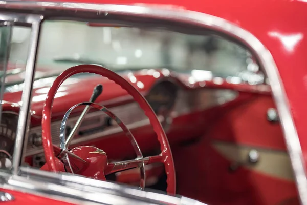
[[[73,106],[64,116],[61,130],[60,130],[60,148],[52,144],[51,136],[51,108],[53,100],[58,88],[61,84],[70,76],[77,73],[95,73],[103,77],[114,81],[126,90],[134,100],[137,101],[141,109],[143,109],[146,116],[149,118],[150,124],[153,130],[156,132],[158,141],[160,142],[161,153],[156,156],[143,157],[141,150],[135,140],[134,136],[128,130],[128,128],[116,117],[111,111],[104,106],[95,103],[81,103]],[[126,160],[120,162],[107,162],[106,153],[103,150],[92,146],[78,146],[71,150],[65,146],[63,142],[65,140],[65,126],[66,121],[71,111],[80,105],[92,106],[99,110],[104,111],[107,115],[113,118],[118,125],[123,129],[126,136],[129,137],[131,144],[137,153],[137,158],[133,160]],[[130,168],[139,167],[141,169],[140,189],[145,187],[145,169],[144,165],[150,163],[162,162],[165,167],[167,175],[167,193],[174,195],[176,193],[176,176],[174,170],[174,162],[169,146],[169,142],[165,135],[165,132],[160,124],[159,119],[155,112],[148,104],[147,100],[142,94],[133,87],[127,80],[115,72],[108,70],[102,66],[97,65],[78,65],[71,67],[62,72],[54,81],[51,86],[45,104],[42,110],[42,145],[45,152],[47,166],[43,166],[42,170],[48,170],[52,172],[66,171],[70,173],[76,173],[83,176],[105,180],[105,175],[118,171],[124,171]]]

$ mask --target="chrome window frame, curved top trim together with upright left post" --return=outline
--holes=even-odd
[[[205,13],[187,11],[183,9],[167,9],[167,8],[151,8],[145,6],[128,6],[128,5],[104,5],[104,4],[84,4],[84,3],[54,3],[54,2],[0,2],[0,10],[7,9],[7,11],[15,12],[31,12],[35,10],[39,15],[28,14],[31,16],[27,18],[26,23],[31,23],[32,33],[31,38],[34,42],[30,46],[30,53],[28,56],[26,66],[26,76],[28,86],[25,86],[23,92],[23,105],[21,106],[20,118],[18,121],[18,130],[16,135],[15,151],[22,150],[22,142],[26,135],[27,121],[29,119],[29,105],[31,104],[31,88],[33,84],[33,73],[35,71],[35,58],[37,52],[37,42],[40,30],[40,23],[43,14],[46,10],[56,10],[65,13],[75,11],[74,17],[70,20],[84,20],[84,15],[88,12],[91,15],[96,14],[98,20],[101,16],[109,13],[118,15],[141,16],[161,20],[170,20],[173,22],[180,22],[189,25],[199,26],[205,29],[214,30],[222,34],[226,34],[246,45],[252,53],[257,57],[258,62],[268,75],[270,85],[272,88],[273,98],[279,113],[284,139],[287,144],[288,152],[291,158],[292,167],[295,173],[295,179],[303,204],[307,204],[307,178],[305,172],[305,162],[296,132],[295,124],[293,122],[289,101],[284,91],[284,87],[275,64],[275,61],[269,50],[249,31],[228,22],[220,17],[212,16]],[[82,11],[82,12],[80,12]],[[70,13],[72,14],[72,13]],[[56,14],[54,14],[56,15]],[[78,19],[79,16],[79,19]],[[69,17],[69,16],[67,16]],[[0,20],[19,20],[11,15],[0,15]],[[31,20],[32,19],[32,20]],[[25,81],[26,84],[26,81]],[[21,159],[21,152],[14,153],[13,175],[18,174],[18,166]],[[39,173],[39,171],[38,171]]]

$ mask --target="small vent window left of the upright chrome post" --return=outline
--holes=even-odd
[[[0,115],[0,138],[2,139],[0,142],[0,169],[2,170],[10,170],[12,168],[18,122],[18,111],[14,108],[19,106],[12,101],[7,101],[4,85],[8,81],[16,79],[16,77],[21,84],[23,83],[29,46],[29,41],[23,40],[23,48],[25,50],[16,50],[15,40],[21,37],[16,35],[19,32],[18,30],[31,32],[31,28],[10,26],[10,23],[0,26],[0,112],[2,113]],[[22,55],[25,55],[25,57],[22,57]],[[18,96],[16,96],[16,99],[18,100]],[[20,99],[21,96],[19,101]]]

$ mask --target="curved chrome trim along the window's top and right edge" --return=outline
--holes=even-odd
[[[57,9],[63,11],[74,10],[76,11],[76,13],[74,14],[76,16],[80,15],[80,13],[77,13],[77,11],[89,11],[92,13],[96,13],[97,18],[99,18],[100,15],[103,16],[107,15],[108,13],[114,13],[121,15],[135,15],[156,19],[173,20],[174,22],[177,21],[186,24],[194,24],[207,29],[215,30],[230,35],[239,40],[240,42],[244,43],[254,52],[254,54],[256,54],[260,65],[265,69],[269,77],[273,97],[281,120],[284,138],[286,140],[287,148],[292,162],[292,167],[295,173],[295,179],[300,195],[300,200],[303,204],[307,204],[307,178],[305,175],[305,162],[303,159],[299,138],[290,111],[289,101],[284,91],[284,87],[281,82],[277,66],[270,51],[250,32],[228,22],[225,19],[205,13],[187,11],[182,9],[171,10],[144,6],[52,2],[0,2],[0,8],[12,9],[12,11],[14,9],[31,10],[35,8]],[[40,11],[41,13],[45,12],[44,10],[38,9],[37,11]],[[28,60],[34,63],[33,58],[30,58]],[[27,91],[27,96],[29,96],[29,94],[31,93],[29,87],[25,91]],[[23,139],[23,136],[21,136],[20,134],[18,135],[18,137],[18,140]],[[14,171],[14,173],[16,174],[16,171]]]

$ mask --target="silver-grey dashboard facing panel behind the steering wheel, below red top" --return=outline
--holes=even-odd
[[[145,95],[148,103],[156,112],[165,132],[171,134],[173,127],[176,129],[176,121],[211,107],[221,105],[233,100],[237,96],[235,91],[230,90],[186,90],[170,81],[162,81],[149,90]],[[102,103],[103,104],[103,103]],[[117,115],[130,130],[138,130],[150,125],[149,119],[135,102],[109,108]],[[79,116],[68,120],[68,132],[75,125]],[[202,118],[195,118],[192,123],[197,126]],[[59,145],[59,128],[61,121],[52,122],[52,141]],[[153,132],[153,131],[152,131]],[[71,145],[77,146],[96,140],[103,140],[110,136],[122,133],[121,128],[101,111],[88,113],[83,120],[79,132],[75,135]],[[27,157],[32,157],[33,166],[40,167],[45,163],[43,148],[41,146],[41,127],[30,129],[27,146]]]

